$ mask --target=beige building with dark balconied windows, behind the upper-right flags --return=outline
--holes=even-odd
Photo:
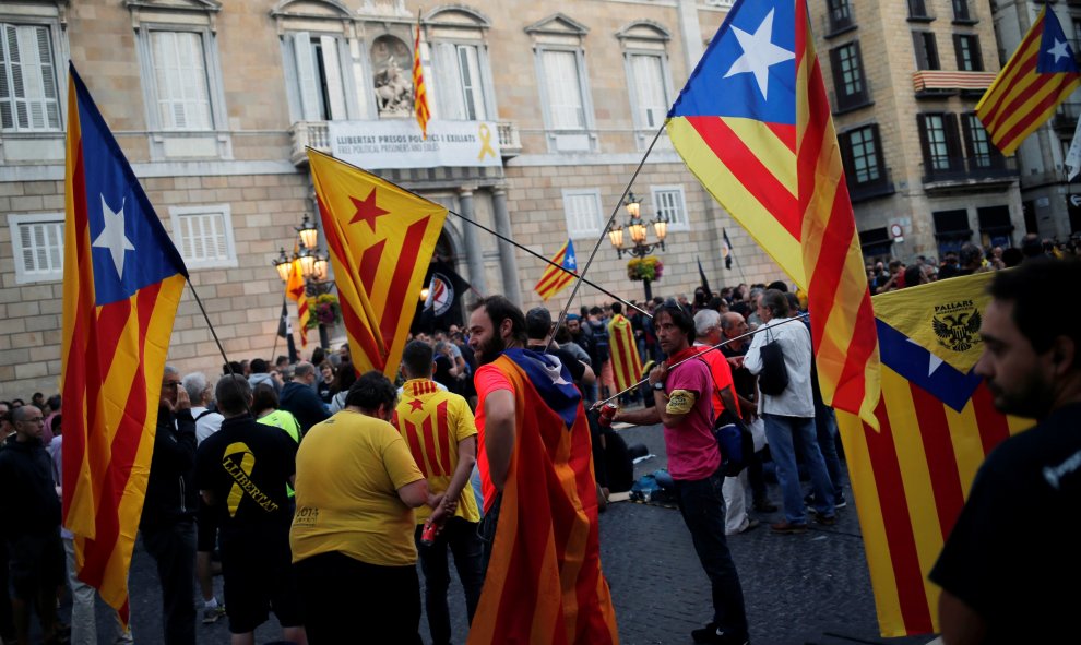
[[[941,258],[1026,232],[1014,157],[975,116],[999,69],[975,0],[810,3],[868,259]]]

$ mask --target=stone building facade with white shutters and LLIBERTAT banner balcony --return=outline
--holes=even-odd
[[[454,211],[437,253],[478,292],[537,304],[543,263],[466,219],[544,256],[570,238],[584,266],[609,214],[626,220],[620,195],[728,5],[425,7],[429,129],[472,128],[491,154],[448,165],[388,153],[368,168]],[[270,357],[284,353],[274,349],[283,284],[272,261],[292,248],[305,215],[318,220],[305,147],[342,154],[342,142],[358,140],[349,132],[417,128],[408,71],[418,10],[403,0],[0,1],[0,398],[60,386],[68,59],[180,250],[229,358]],[[692,291],[698,260],[714,288],[782,277],[663,133],[632,190],[643,219],[668,220],[655,294]],[[720,256],[723,230],[732,270]],[[603,240],[589,277],[641,299],[626,265]],[[548,307],[561,308],[569,294]],[[583,286],[573,304],[609,300]],[[191,294],[169,361],[219,371]]]

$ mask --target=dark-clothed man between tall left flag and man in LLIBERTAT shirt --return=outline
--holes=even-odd
[[[157,564],[166,645],[195,645],[195,419],[180,372],[166,366],[139,530]]]

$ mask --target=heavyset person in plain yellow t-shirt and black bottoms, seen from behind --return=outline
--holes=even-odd
[[[435,522],[447,510],[387,422],[396,397],[384,375],[364,374],[297,452],[289,541],[312,645],[420,643],[413,509],[436,509]]]

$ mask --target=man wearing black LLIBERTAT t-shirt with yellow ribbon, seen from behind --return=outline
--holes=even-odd
[[[199,445],[195,479],[221,527],[225,610],[235,645],[254,643],[253,632],[273,608],[283,640],[307,643],[293,575],[286,485],[296,474],[297,443],[260,426],[248,413],[251,386],[241,377],[217,382],[222,429]]]

